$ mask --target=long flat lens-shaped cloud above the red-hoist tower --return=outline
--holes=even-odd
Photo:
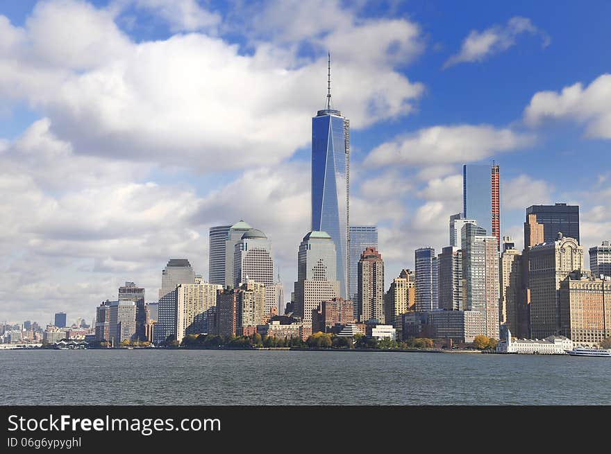
[[[365,164],[430,166],[478,161],[495,152],[524,148],[533,141],[532,134],[492,125],[433,126],[377,146]]]

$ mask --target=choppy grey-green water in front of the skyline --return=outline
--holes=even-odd
[[[611,359],[334,351],[0,351],[4,405],[611,404]]]

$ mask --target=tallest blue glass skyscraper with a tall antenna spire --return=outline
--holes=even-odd
[[[348,296],[349,120],[331,107],[330,58],[326,108],[312,118],[312,231],[335,243],[340,295]]]

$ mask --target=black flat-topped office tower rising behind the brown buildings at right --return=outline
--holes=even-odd
[[[578,205],[532,205],[526,209],[526,216],[529,214],[534,214],[537,223],[543,225],[542,243],[553,243],[560,232],[566,238],[574,238],[579,244]]]

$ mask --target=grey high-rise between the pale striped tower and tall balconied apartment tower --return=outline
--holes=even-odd
[[[462,310],[462,250],[448,246],[437,256],[439,268],[439,308]]]

